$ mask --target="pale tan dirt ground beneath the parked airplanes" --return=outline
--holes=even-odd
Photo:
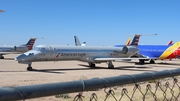
[[[34,71],[27,71],[26,64],[19,64],[14,58],[18,54],[4,55],[0,60],[0,87],[24,86],[43,83],[55,83],[80,79],[104,78],[124,74],[139,74],[161,70],[176,69],[180,60],[156,61],[156,64],[137,65],[130,62],[113,62],[115,69],[107,69],[107,64],[97,64],[97,68],[90,69],[88,64],[80,61],[35,62],[32,64]],[[26,101],[60,101],[55,96],[29,99]]]

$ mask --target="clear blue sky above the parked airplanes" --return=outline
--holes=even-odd
[[[133,34],[139,44],[180,41],[180,0],[0,0],[0,44],[87,46],[125,44]]]

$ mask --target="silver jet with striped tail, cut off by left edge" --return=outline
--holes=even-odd
[[[30,38],[27,44],[18,46],[0,46],[0,59],[4,59],[3,55],[23,53],[33,48],[36,38]]]

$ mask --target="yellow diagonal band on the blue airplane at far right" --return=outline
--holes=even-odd
[[[176,42],[168,49],[164,51],[164,53],[159,57],[159,59],[166,59],[169,55],[171,55],[177,48],[180,47],[180,42]]]

